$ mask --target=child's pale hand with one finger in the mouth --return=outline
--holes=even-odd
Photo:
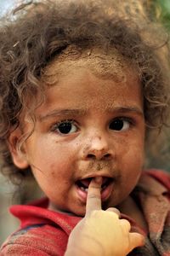
[[[130,223],[116,208],[101,209],[102,177],[88,187],[86,215],[71,231],[65,256],[125,256],[144,245],[144,236],[130,233]]]

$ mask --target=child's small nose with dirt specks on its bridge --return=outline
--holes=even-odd
[[[83,148],[84,160],[110,160],[113,157],[113,149],[110,147],[109,138],[95,136],[88,139]]]

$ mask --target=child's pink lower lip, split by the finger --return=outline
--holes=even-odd
[[[113,185],[112,183],[110,183],[105,189],[101,191],[101,201],[106,201],[109,198],[109,196],[111,195],[112,189],[113,189]],[[83,191],[77,186],[77,194],[80,200],[86,203],[88,192]]]

